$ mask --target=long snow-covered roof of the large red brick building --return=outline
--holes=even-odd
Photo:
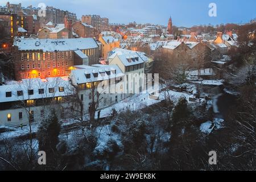
[[[14,46],[20,51],[42,50],[43,52],[76,51],[81,49],[97,48],[93,38],[78,39],[16,39]]]

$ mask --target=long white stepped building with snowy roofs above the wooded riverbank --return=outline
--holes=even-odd
[[[109,57],[109,65],[74,65],[69,76],[26,78],[2,85],[0,125],[40,122],[53,108],[60,118],[78,117],[81,115],[77,112],[81,111],[79,102],[83,114],[88,114],[93,101],[97,101],[97,110],[113,105],[145,90],[144,73],[148,61],[141,52],[115,49]],[[97,93],[95,97],[93,93]]]

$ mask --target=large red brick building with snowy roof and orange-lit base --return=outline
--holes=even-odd
[[[92,38],[16,39],[14,55],[15,80],[22,80],[68,76],[74,63],[97,64],[100,53]]]

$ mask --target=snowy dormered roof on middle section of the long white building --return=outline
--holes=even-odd
[[[106,72],[108,72],[109,75]],[[101,73],[104,74],[101,75]],[[86,78],[86,75],[90,75],[90,77]],[[97,77],[94,77],[94,75],[97,75]],[[76,84],[85,84],[89,82],[109,80],[121,76],[124,76],[124,74],[117,65],[104,65],[102,67],[92,65],[86,66],[84,69],[81,67],[81,69],[72,70],[69,77],[75,78],[72,80],[76,81]]]

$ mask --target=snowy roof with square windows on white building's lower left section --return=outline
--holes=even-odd
[[[59,87],[64,87],[64,92],[59,92]],[[49,93],[49,88],[54,88],[54,93]],[[44,80],[40,78],[23,79],[16,84],[0,86],[0,102],[67,96],[71,94],[70,88],[68,77],[46,78]],[[39,94],[38,89],[44,89],[44,94]],[[23,96],[18,96],[17,91],[21,90]],[[34,94],[28,95],[28,90],[34,90]],[[11,92],[11,97],[6,97],[6,92]]]

